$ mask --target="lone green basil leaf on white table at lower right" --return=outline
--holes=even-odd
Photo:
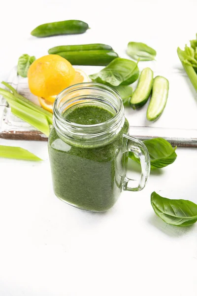
[[[197,222],[197,205],[185,199],[168,199],[155,191],[151,194],[155,214],[164,222],[176,226],[189,226]]]

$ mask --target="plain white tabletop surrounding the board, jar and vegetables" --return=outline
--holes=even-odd
[[[160,69],[170,72],[180,67],[177,46],[197,33],[196,0],[26,0],[0,8],[1,80],[23,53],[40,57],[52,46],[100,42],[126,57],[131,40],[154,47]],[[91,30],[69,37],[30,35],[41,23],[66,19],[83,20]],[[187,122],[187,95],[177,83],[177,96],[183,95]],[[167,225],[150,204],[154,190],[197,203],[196,149],[178,148],[174,164],[151,174],[144,190],[124,192],[110,211],[91,214],[55,197],[47,143],[0,139],[0,145],[27,148],[44,159],[0,159],[0,296],[197,295],[197,225]]]

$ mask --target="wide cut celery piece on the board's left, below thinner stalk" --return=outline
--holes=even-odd
[[[49,123],[45,115],[40,114],[18,102],[14,99],[4,96],[5,100],[8,102],[11,107],[11,112],[22,120],[28,122],[34,126],[37,130],[49,136]]]

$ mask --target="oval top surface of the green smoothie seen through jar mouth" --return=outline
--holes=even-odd
[[[71,111],[65,111],[64,117],[70,122],[82,124],[82,125],[93,125],[105,122],[111,119],[115,114],[112,112],[96,106],[96,105],[85,105],[75,107]]]

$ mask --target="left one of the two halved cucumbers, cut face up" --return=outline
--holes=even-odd
[[[153,71],[150,68],[142,70],[137,88],[130,100],[132,109],[140,108],[148,101],[153,86]]]

